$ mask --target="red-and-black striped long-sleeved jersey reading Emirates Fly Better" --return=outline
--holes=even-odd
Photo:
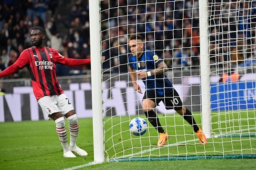
[[[28,68],[31,76],[32,88],[36,99],[44,96],[62,94],[56,77],[56,63],[76,66],[90,64],[91,59],[72,59],[59,54],[56,49],[35,46],[25,49],[17,61],[0,73],[0,78],[15,73],[24,67]],[[14,71],[14,72],[13,72]]]

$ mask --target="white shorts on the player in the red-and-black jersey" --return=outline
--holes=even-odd
[[[67,112],[74,110],[66,94],[44,96],[37,100],[37,102],[48,117],[56,112],[61,112],[62,115],[65,115]]]

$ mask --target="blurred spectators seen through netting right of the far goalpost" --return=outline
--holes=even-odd
[[[224,0],[209,6],[210,64],[226,69],[255,65],[256,1]]]

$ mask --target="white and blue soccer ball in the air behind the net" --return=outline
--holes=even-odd
[[[135,136],[140,136],[146,133],[147,131],[147,121],[143,118],[133,118],[130,121],[130,132]]]

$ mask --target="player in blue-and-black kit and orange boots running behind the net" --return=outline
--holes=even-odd
[[[200,143],[206,144],[206,137],[203,131],[197,126],[190,110],[183,106],[177,91],[165,76],[165,72],[168,71],[168,68],[162,58],[156,53],[144,49],[143,38],[138,34],[130,36],[128,45],[132,53],[132,55],[128,57],[128,64],[133,87],[135,91],[142,93],[140,85],[137,84],[137,77],[140,77],[146,87],[142,99],[143,111],[148,121],[159,132],[157,146],[164,145],[165,140],[168,139],[168,135],[163,130],[158,116],[153,111],[153,108],[158,106],[161,101],[165,104],[165,109],[175,109],[178,114],[182,115],[193,127]]]

